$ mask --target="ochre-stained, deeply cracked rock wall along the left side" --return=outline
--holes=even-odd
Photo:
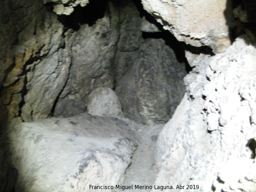
[[[1,40],[4,41],[1,53],[5,57],[1,66],[7,69],[6,75],[1,75],[4,84],[0,106],[5,113],[4,119],[12,119],[21,113],[26,121],[33,116],[47,117],[54,97],[67,80],[70,65],[67,58],[70,55],[63,47],[65,40],[61,37],[63,26],[40,1],[7,2],[3,1],[6,4],[2,17],[10,19],[0,26]],[[28,98],[29,95],[35,98]],[[19,109],[21,107],[23,109]]]

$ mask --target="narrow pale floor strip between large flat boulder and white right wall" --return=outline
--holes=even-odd
[[[134,189],[135,185],[152,186],[156,179],[155,166],[156,140],[164,124],[140,125],[136,131],[138,148],[132,156],[132,164],[127,169],[122,185],[132,186],[128,192],[148,191],[147,189]]]

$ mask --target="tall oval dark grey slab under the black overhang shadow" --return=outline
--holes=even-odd
[[[158,51],[154,47],[159,47]],[[136,87],[139,113],[146,124],[167,122],[185,92],[184,64],[162,39],[147,39],[140,47]]]

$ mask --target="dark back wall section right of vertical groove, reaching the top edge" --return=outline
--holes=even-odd
[[[122,1],[119,6],[115,91],[124,116],[145,124],[167,122],[185,92],[185,64],[178,62],[168,42],[161,39],[165,33],[140,18],[131,1]],[[148,32],[144,38],[141,30]]]

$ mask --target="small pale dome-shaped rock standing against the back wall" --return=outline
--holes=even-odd
[[[90,93],[87,102],[87,112],[102,117],[124,117],[116,93],[106,87],[96,88]]]

